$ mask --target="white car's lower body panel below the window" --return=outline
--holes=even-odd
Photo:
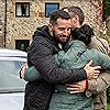
[[[23,110],[24,92],[0,94],[0,110]]]

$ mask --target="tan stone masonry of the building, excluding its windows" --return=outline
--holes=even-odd
[[[2,12],[0,15],[4,16],[3,0],[0,0],[0,4],[1,2],[3,8],[0,8],[0,12]],[[86,15],[85,23],[89,23],[95,32],[98,32],[97,7],[94,6],[94,3],[98,4],[98,0],[95,0],[94,3],[90,0],[8,0],[7,2],[6,46],[9,48],[15,48],[15,40],[30,40],[31,43],[35,29],[48,23],[48,18],[44,15],[45,2],[59,2],[59,8],[72,4],[80,7]],[[30,2],[30,18],[15,16],[15,2]]]

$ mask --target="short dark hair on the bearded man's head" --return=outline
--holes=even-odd
[[[52,24],[56,24],[57,23],[57,19],[65,19],[65,20],[69,20],[70,15],[68,14],[68,12],[64,11],[64,10],[56,10],[51,14],[50,18],[50,23]]]

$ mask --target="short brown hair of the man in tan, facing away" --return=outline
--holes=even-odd
[[[68,13],[70,14],[70,18],[75,18],[75,15],[78,15],[79,18],[79,23],[80,25],[82,24],[82,22],[85,21],[85,14],[82,12],[82,10],[79,7],[64,7],[62,10],[67,9]]]

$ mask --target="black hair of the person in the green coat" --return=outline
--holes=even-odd
[[[91,42],[91,37],[95,35],[94,30],[88,24],[72,30],[70,34],[74,40],[82,41],[86,45]]]

